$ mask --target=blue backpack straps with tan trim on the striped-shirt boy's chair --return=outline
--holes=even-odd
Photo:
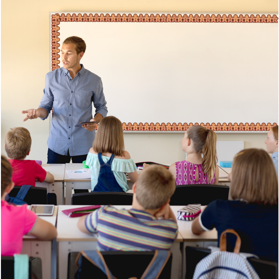
[[[148,267],[145,269],[140,279],[157,279],[160,276],[163,268],[165,267],[168,259],[170,258],[170,254],[170,250],[155,250],[152,260],[148,264]],[[77,266],[79,266],[79,269],[75,274],[75,279],[88,278],[81,276],[82,256],[85,257],[89,262],[94,264],[96,267],[100,268],[100,270],[102,270],[102,272],[107,275],[108,279],[117,279],[109,270],[100,251],[81,251],[78,253],[76,264]],[[136,277],[130,277],[128,279],[132,278]]]

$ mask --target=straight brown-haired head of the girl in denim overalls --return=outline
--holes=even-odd
[[[93,149],[97,153],[124,155],[123,128],[118,118],[107,116],[100,121]]]

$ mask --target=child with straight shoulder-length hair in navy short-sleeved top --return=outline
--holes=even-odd
[[[239,152],[232,165],[232,201],[212,201],[195,219],[192,231],[201,234],[230,228],[241,237],[241,251],[278,263],[278,180],[269,155],[261,149]],[[235,238],[227,234],[232,251]]]

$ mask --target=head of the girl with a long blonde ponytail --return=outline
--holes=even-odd
[[[203,155],[203,171],[212,179],[218,161],[216,153],[217,136],[214,131],[203,126],[191,126],[182,140],[182,150]]]

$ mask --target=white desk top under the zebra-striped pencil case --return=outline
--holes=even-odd
[[[177,211],[184,206],[171,206],[171,209],[175,216],[177,216]],[[201,206],[203,208],[203,206]],[[203,232],[200,235],[194,234],[192,232],[192,222],[193,221],[184,221],[177,220],[178,231],[183,237],[184,241],[216,241],[218,239],[217,231],[214,228],[209,232]]]

